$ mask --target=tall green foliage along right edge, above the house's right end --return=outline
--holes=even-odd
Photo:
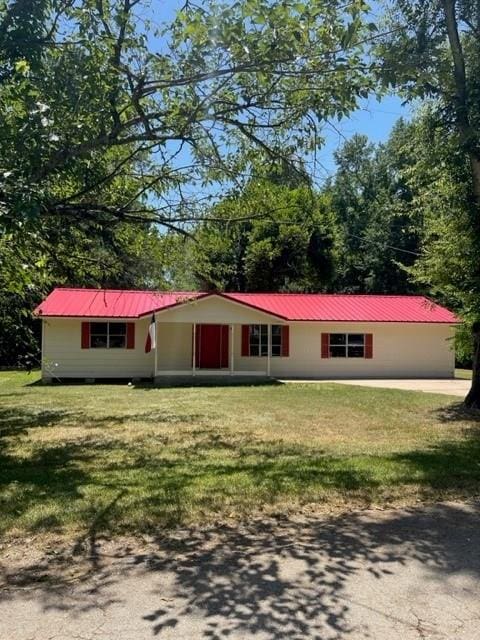
[[[411,128],[409,184],[422,212],[414,274],[467,319],[480,316],[480,11],[477,2],[396,0],[381,80],[430,98]],[[458,41],[455,41],[455,36]]]

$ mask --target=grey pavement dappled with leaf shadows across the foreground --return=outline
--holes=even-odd
[[[31,545],[30,545],[31,547]],[[478,640],[480,503],[3,558],[5,640]]]

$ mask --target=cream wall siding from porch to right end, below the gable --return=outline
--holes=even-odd
[[[241,324],[233,326],[234,370],[266,373],[266,357],[242,357],[241,330]],[[373,358],[322,359],[322,332],[372,333]],[[159,324],[158,336],[159,371],[190,370],[192,325]],[[453,329],[445,325],[292,323],[290,356],[272,357],[271,375],[306,378],[451,377],[454,369],[452,336]]]

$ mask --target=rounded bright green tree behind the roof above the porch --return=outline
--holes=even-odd
[[[197,286],[227,291],[318,291],[335,261],[326,197],[278,174],[251,181],[212,207],[188,258]]]

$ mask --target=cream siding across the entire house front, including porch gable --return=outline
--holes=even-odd
[[[91,318],[90,320],[95,320]],[[150,318],[135,322],[135,349],[82,349],[80,319],[44,319],[44,377],[149,377],[155,353],[144,353]],[[233,324],[234,370],[266,373],[267,358],[242,357],[241,326],[279,323],[221,298],[208,298],[157,317],[157,371],[192,370],[192,323]],[[454,329],[446,325],[293,322],[290,356],[271,358],[271,375],[305,378],[451,377]],[[372,333],[373,358],[321,358],[322,333]],[[231,334],[230,334],[231,335]],[[229,357],[231,349],[229,348]],[[228,372],[227,372],[228,373]]]

